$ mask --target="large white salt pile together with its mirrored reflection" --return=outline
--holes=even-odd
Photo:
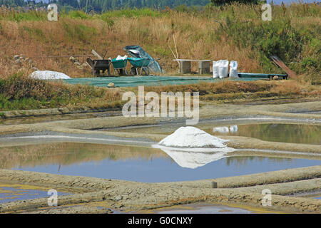
[[[223,140],[193,127],[178,128],[172,135],[153,147],[160,148],[181,167],[195,169],[225,157],[233,148],[224,145]]]

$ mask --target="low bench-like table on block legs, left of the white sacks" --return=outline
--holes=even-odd
[[[191,62],[198,62],[198,73],[210,73],[210,62],[212,60],[200,60],[200,59],[173,59],[178,61],[180,67],[180,73],[191,73]]]

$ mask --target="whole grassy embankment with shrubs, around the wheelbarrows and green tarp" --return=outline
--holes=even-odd
[[[168,45],[176,38],[180,58],[236,60],[241,72],[282,73],[268,56],[277,55],[300,75],[287,82],[222,82],[198,86],[151,87],[147,90],[200,91],[203,100],[249,98],[320,97],[321,39],[320,6],[292,4],[273,6],[272,21],[263,21],[259,6],[232,5],[195,11],[152,9],[108,11],[86,15],[80,11],[62,13],[57,22],[46,21],[46,13],[14,13],[0,10],[0,110],[80,106],[104,108],[120,105],[120,92],[86,86],[65,86],[24,79],[32,67],[60,71],[71,77],[91,75],[68,58],[36,58],[90,54],[94,48],[114,58],[125,54],[123,47],[139,44],[161,58],[168,73],[177,63]],[[23,54],[33,63],[14,63]],[[85,59],[79,58],[83,62]],[[195,67],[195,66],[194,66]],[[196,69],[193,69],[196,71]],[[12,76],[16,73],[19,76]]]

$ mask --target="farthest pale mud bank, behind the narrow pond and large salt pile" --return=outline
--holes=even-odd
[[[252,119],[264,121],[277,121],[279,123],[315,123],[321,124],[321,115],[289,113],[295,110],[321,109],[321,101],[310,103],[291,103],[283,105],[203,105],[200,107],[200,120],[240,120]],[[126,118],[114,116],[108,118],[88,118],[83,120],[62,120],[50,123],[34,123],[21,125],[1,125],[0,135],[14,133],[36,132],[72,128],[81,130],[97,130],[118,128],[133,125],[163,125],[165,123],[185,124],[185,118]]]

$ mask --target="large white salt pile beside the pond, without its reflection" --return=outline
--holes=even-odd
[[[158,142],[158,145],[165,147],[185,147],[185,148],[225,148],[223,140],[205,131],[194,127],[181,127],[175,133]]]

